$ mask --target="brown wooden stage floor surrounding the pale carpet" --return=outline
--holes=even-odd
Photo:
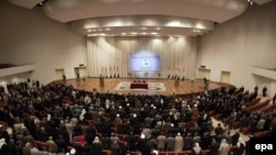
[[[166,91],[155,91],[155,90],[115,90],[115,87],[120,81],[134,81],[132,78],[105,78],[104,87],[99,85],[99,78],[87,78],[86,80],[76,80],[76,79],[67,79],[66,81],[59,80],[57,82],[63,82],[65,85],[72,85],[74,88],[79,90],[85,90],[91,92],[94,88],[97,89],[98,92],[116,92],[116,93],[139,93],[139,95],[191,95],[193,92],[204,91],[203,80],[197,79],[194,84],[191,84],[190,80],[179,81],[179,85],[176,85],[176,80],[172,79],[142,79],[148,82],[162,82],[166,87]],[[209,85],[209,89],[216,89],[224,85],[219,82],[211,81]]]

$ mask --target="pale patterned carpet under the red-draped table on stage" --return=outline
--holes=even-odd
[[[166,87],[163,82],[147,82],[148,89],[130,89],[129,81],[119,82],[114,90],[150,90],[150,91],[166,91]]]

